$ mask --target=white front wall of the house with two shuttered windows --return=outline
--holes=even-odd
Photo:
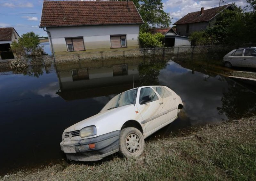
[[[65,38],[69,37],[83,37],[85,50],[109,51],[110,35],[119,34],[126,34],[127,47],[139,48],[140,25],[48,27],[47,30],[51,33],[55,53],[67,52]]]

